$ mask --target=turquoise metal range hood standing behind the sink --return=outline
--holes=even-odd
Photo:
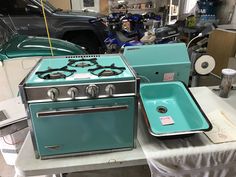
[[[141,82],[189,82],[191,63],[185,44],[159,44],[125,47],[124,56]]]

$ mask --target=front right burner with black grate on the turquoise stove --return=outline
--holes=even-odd
[[[113,63],[111,66],[101,66],[97,65],[97,68],[88,69],[93,75],[96,76],[115,76],[123,73],[125,67],[117,67]]]

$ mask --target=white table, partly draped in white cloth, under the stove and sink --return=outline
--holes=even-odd
[[[236,91],[223,99],[207,87],[191,88],[205,114],[223,110],[236,124]],[[137,147],[131,151],[36,159],[28,134],[16,161],[18,176],[51,175],[149,164],[153,176],[236,176],[236,142],[213,144],[204,133],[174,139],[148,134],[139,111]]]

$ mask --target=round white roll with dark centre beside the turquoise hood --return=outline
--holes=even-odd
[[[210,55],[203,55],[196,60],[194,68],[200,75],[209,74],[215,68],[215,60]]]

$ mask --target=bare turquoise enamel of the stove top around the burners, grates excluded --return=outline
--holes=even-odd
[[[91,58],[91,57],[85,57],[85,59]],[[94,57],[93,57],[94,58]],[[69,59],[75,59],[78,60],[78,58],[69,58]],[[99,81],[124,81],[124,80],[131,80],[133,79],[133,74],[130,72],[129,68],[125,65],[123,59],[119,55],[100,55],[100,57],[97,57],[98,64],[102,66],[110,66],[111,64],[115,64],[118,67],[125,67],[126,69],[123,71],[123,73],[115,76],[109,76],[109,77],[97,77],[93,74],[88,73],[88,69],[90,68],[96,68],[95,66],[91,67],[71,67],[68,66],[68,69],[76,70],[76,72],[67,78],[62,79],[56,79],[56,80],[43,80],[38,78],[38,76],[35,74],[36,71],[45,71],[48,69],[49,66],[53,66],[51,68],[61,68],[68,64],[68,59],[66,58],[44,58],[41,60],[39,65],[35,68],[35,70],[30,74],[26,81],[27,86],[40,86],[40,85],[57,85],[57,84],[75,84],[75,83],[95,83]],[[89,74],[89,78],[85,79],[78,79],[78,74]]]

